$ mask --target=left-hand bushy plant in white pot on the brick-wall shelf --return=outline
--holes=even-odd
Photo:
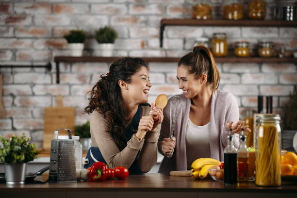
[[[68,42],[70,56],[82,56],[86,34],[82,30],[70,30],[68,34],[64,35],[64,38]]]

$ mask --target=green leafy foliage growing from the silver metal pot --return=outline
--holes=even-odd
[[[30,140],[30,137],[25,139],[24,133],[20,138],[13,135],[9,140],[1,136],[0,163],[27,163],[36,159],[41,150],[35,150],[35,144],[28,143]]]

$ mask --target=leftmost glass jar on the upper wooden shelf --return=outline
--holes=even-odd
[[[194,0],[192,18],[212,19],[212,6],[209,0]]]

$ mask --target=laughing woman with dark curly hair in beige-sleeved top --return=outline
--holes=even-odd
[[[126,166],[129,172],[148,172],[157,162],[157,141],[163,109],[149,106],[148,65],[140,58],[121,58],[89,92],[91,148],[86,159],[90,167],[103,162],[111,168]],[[152,118],[150,115],[154,115]],[[148,131],[140,142],[141,130]]]

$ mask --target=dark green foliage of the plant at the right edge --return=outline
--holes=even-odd
[[[283,129],[297,130],[297,89],[290,93],[290,98],[283,109]]]

